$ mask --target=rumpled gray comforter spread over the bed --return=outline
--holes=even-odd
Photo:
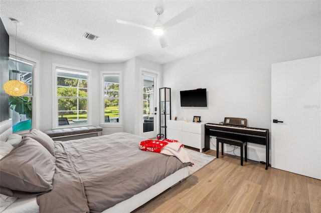
[[[145,139],[114,133],[56,141],[53,190],[37,196],[40,213],[101,212],[190,165],[140,150]]]

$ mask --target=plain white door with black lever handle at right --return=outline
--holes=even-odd
[[[271,76],[271,166],[321,179],[321,56],[272,64]]]

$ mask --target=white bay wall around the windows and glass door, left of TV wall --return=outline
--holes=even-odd
[[[10,49],[15,47],[15,40],[10,37]],[[39,50],[35,47],[18,41],[18,54],[39,60],[39,91],[35,98],[40,102],[37,107],[39,114],[36,127],[40,130],[52,129],[52,63],[63,64],[92,70],[92,85],[90,95],[92,97],[92,125],[100,125],[100,72],[101,71],[122,71],[123,97],[122,97],[122,123],[113,125],[102,125],[103,133],[125,131],[139,134],[140,118],[137,117],[140,104],[136,101],[141,94],[139,89],[139,69],[141,67],[156,71],[162,70],[162,65],[148,60],[134,57],[123,63],[95,63],[83,59],[77,59],[65,55],[54,54]]]

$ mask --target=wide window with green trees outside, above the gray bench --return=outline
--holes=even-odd
[[[82,125],[88,122],[89,71],[56,67],[56,125]]]

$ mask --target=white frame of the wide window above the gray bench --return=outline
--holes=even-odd
[[[92,79],[92,70],[86,68],[80,68],[75,66],[68,66],[63,64],[52,64],[52,78],[53,78],[53,112],[52,112],[52,128],[66,128],[66,125],[59,125],[57,117],[59,116],[58,113],[58,96],[57,96],[57,69],[66,70],[66,71],[74,71],[74,72],[81,72],[87,73],[87,123],[79,123],[79,124],[71,124],[68,127],[75,127],[75,126],[88,126],[92,124],[92,92],[91,92],[91,79]]]

